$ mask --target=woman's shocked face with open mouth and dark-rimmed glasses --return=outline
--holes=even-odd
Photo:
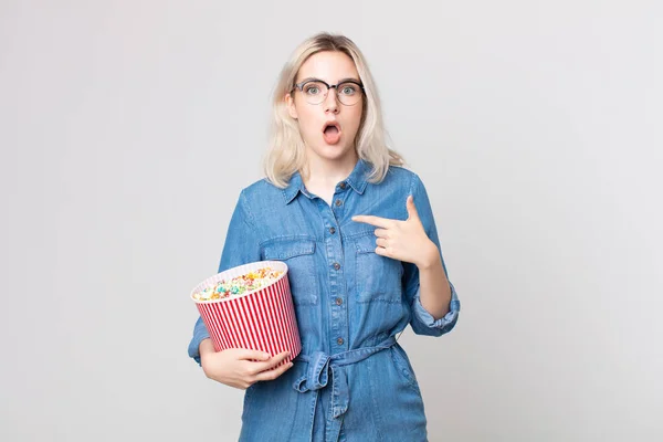
[[[299,67],[295,83],[308,78],[322,80],[329,85],[346,80],[360,83],[355,62],[343,52],[318,52],[308,57]],[[327,96],[323,98],[324,93],[324,86],[316,87],[315,83],[308,83],[303,91],[295,88],[292,94],[286,95],[288,113],[298,122],[306,154],[333,161],[354,158],[355,138],[364,112],[362,92],[359,86],[345,83],[338,91],[329,88]],[[341,94],[340,99],[338,94]],[[356,94],[360,95],[358,101]],[[317,101],[320,103],[311,103]],[[341,101],[356,103],[346,105]],[[336,126],[336,129],[328,128],[329,125]]]

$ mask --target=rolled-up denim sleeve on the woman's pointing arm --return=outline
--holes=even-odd
[[[417,212],[423,224],[424,231],[431,241],[438,246],[440,251],[440,260],[442,261],[442,267],[449,280],[449,273],[446,272],[446,265],[442,257],[442,248],[440,246],[440,240],[438,238],[438,229],[435,227],[435,220],[433,218],[433,211],[431,203],[425,191],[425,187],[421,179],[413,175],[410,193],[414,197],[414,204],[417,206]],[[435,320],[433,316],[421,305],[420,293],[419,293],[419,269],[412,263],[403,263],[404,272],[402,277],[403,290],[406,299],[410,304],[411,319],[410,325],[412,330],[417,335],[428,336],[442,336],[445,333],[451,332],[455,326],[459,313],[461,309],[461,303],[459,301],[455,287],[450,284],[451,288],[451,302],[449,305],[449,313]]]

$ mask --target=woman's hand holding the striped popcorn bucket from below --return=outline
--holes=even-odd
[[[223,351],[214,351],[212,340],[209,338],[200,343],[199,350],[200,364],[208,378],[242,390],[261,380],[276,379],[293,366],[293,362],[288,362],[275,370],[270,370],[270,368],[277,366],[282,360],[287,358],[290,355],[288,351],[281,352],[274,357],[270,357],[264,351],[243,348],[229,348]],[[257,361],[252,361],[251,359]]]

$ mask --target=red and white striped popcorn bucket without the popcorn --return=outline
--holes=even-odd
[[[283,274],[270,285],[240,296],[213,301],[193,297],[194,293],[214,287],[221,280],[232,280],[261,267],[272,267]],[[290,362],[302,351],[287,264],[284,262],[257,261],[229,269],[198,284],[190,296],[198,306],[217,351],[248,348],[272,356],[290,351],[290,357],[278,366]]]

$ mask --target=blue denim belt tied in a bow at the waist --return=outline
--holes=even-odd
[[[327,355],[324,351],[315,351],[311,355],[298,355],[295,358],[295,361],[299,360],[308,362],[308,369],[306,370],[306,375],[295,381],[293,388],[302,393],[309,390],[316,392],[309,428],[313,429],[313,422],[315,420],[315,402],[317,402],[317,394],[320,389],[327,387],[329,371],[332,371],[332,413],[334,418],[338,418],[348,410],[349,402],[348,378],[344,366],[359,362],[394,344],[396,338],[390,336],[375,347],[357,348],[336,355]]]

